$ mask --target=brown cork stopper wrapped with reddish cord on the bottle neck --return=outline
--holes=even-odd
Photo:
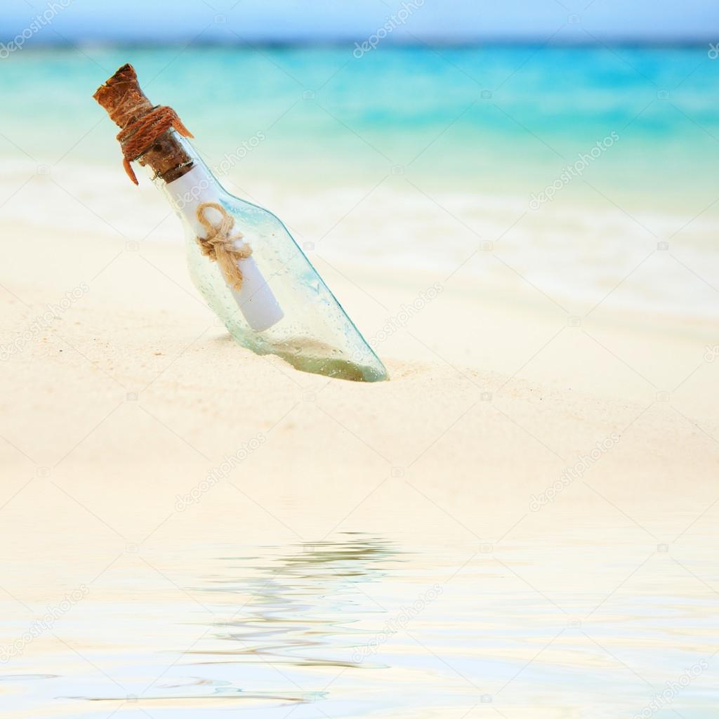
[[[155,177],[168,183],[192,169],[192,157],[172,130],[174,127],[187,137],[192,137],[191,134],[172,109],[152,105],[140,88],[132,65],[122,65],[97,89],[93,98],[120,128],[117,139],[123,150],[125,169],[135,184],[137,178],[129,165],[135,160],[152,168]],[[147,122],[143,123],[145,119]]]

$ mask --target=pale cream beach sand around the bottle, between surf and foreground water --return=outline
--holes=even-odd
[[[144,535],[164,518],[158,508],[172,510],[175,495],[260,437],[232,476],[300,535],[318,513],[328,530],[351,528],[354,505],[385,480],[485,535],[526,514],[532,494],[613,433],[620,439],[587,475],[628,516],[681,528],[713,500],[710,324],[602,306],[577,320],[531,287],[482,287],[457,273],[388,332],[388,318],[437,278],[329,265],[318,251],[317,267],[391,375],[349,383],[234,344],[179,246],[2,230],[23,238],[4,245],[0,279],[0,344],[10,348],[2,502],[29,480],[57,484],[88,493],[127,536]],[[59,316],[38,329],[48,305]],[[564,495],[563,521],[577,502],[597,501]]]

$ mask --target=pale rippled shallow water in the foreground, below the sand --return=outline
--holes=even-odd
[[[3,715],[715,715],[715,592],[661,547],[596,539],[204,546],[176,584],[153,557],[175,589],[158,602],[147,577],[126,576],[133,600],[89,592],[52,627],[73,651],[4,665]],[[692,566],[711,560],[697,551]]]

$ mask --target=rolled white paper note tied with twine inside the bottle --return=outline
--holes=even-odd
[[[219,198],[216,196],[216,181],[211,178],[205,168],[195,165],[186,175],[168,183],[167,190],[170,193],[173,206],[196,233],[196,236],[205,237],[207,229],[198,219],[197,209],[206,202],[219,203]],[[219,221],[219,212],[215,209],[206,208],[204,212],[209,221]],[[242,227],[236,226],[235,229],[242,232]],[[251,244],[250,247],[252,247]],[[228,285],[228,288],[242,311],[244,319],[247,320],[247,324],[255,332],[270,329],[283,319],[285,313],[252,255],[237,262],[242,272],[242,287],[239,290],[234,290]]]

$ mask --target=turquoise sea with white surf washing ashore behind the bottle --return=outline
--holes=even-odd
[[[229,191],[326,257],[534,285],[576,314],[602,302],[714,317],[710,50],[28,48],[0,68],[0,213],[93,223],[62,186],[126,236],[155,232],[157,199],[131,199],[115,129],[91,99],[129,61]]]

